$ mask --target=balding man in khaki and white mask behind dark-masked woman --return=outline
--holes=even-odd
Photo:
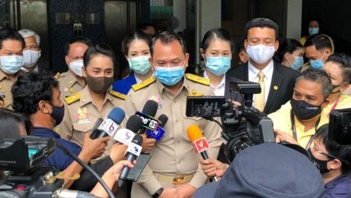
[[[62,100],[84,88],[85,81],[82,72],[83,55],[91,45],[91,40],[84,37],[74,38],[66,44],[65,60],[69,69],[67,72],[55,76],[60,82]]]

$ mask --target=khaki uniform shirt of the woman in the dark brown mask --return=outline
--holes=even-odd
[[[75,96],[78,97],[76,101],[69,104],[70,102],[68,103],[68,101]],[[98,118],[107,118],[108,114],[114,107],[120,107],[123,109],[124,102],[125,101],[122,98],[112,95],[107,91],[102,109],[99,110],[93,102],[88,86],[85,86],[82,91],[71,97],[65,98],[64,119],[60,125],[54,128],[54,130],[59,133],[62,138],[75,142],[82,147],[85,133],[91,131],[96,120]],[[111,146],[112,138],[110,138],[106,151],[102,157],[106,157],[108,155],[108,151],[110,150]]]

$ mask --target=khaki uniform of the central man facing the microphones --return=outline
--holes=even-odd
[[[155,77],[149,79],[152,78],[155,79]],[[141,194],[151,195],[162,187],[162,183],[157,180],[155,174],[176,176],[195,173],[189,184],[196,188],[205,184],[207,177],[199,164],[201,156],[195,154],[187,134],[187,128],[193,124],[199,126],[210,145],[207,153],[211,159],[217,159],[219,147],[222,143],[220,139],[221,129],[214,122],[185,115],[186,94],[192,93],[193,89],[198,93],[204,93],[204,95],[214,95],[210,86],[193,82],[187,78],[184,78],[181,91],[177,95],[173,95],[159,80],[155,80],[150,85],[137,91],[133,89],[129,91],[125,103],[127,119],[134,115],[136,111],[142,111],[148,100],[154,100],[158,103],[155,118],[158,118],[161,114],[168,117],[168,122],[164,126],[164,135],[148,152],[152,154],[152,157],[138,181],[133,183],[132,197],[141,197]],[[220,122],[218,118],[216,119]],[[143,186],[143,188],[138,186]],[[145,192],[145,189],[147,192]]]

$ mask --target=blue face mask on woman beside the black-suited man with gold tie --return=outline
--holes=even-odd
[[[206,57],[206,68],[212,74],[219,76],[230,69],[230,57]]]

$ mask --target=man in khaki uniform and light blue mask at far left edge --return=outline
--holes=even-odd
[[[0,30],[0,95],[5,95],[1,105],[12,109],[11,86],[16,82],[23,64],[25,42],[16,30]]]

